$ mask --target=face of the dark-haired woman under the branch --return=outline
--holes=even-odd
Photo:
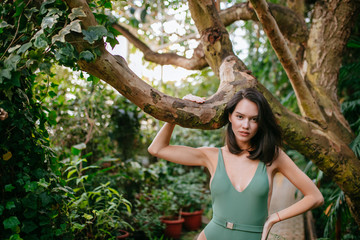
[[[255,136],[258,130],[258,107],[256,103],[244,98],[229,114],[232,130],[240,148],[250,147],[250,139]]]

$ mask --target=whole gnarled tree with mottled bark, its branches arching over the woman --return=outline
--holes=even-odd
[[[86,12],[87,17],[81,19],[84,29],[97,25],[86,0],[66,2],[70,8],[82,7]],[[336,96],[341,54],[352,23],[359,13],[360,3],[355,0],[317,1],[308,32],[301,17],[298,20],[299,13],[278,5],[270,5],[269,11],[264,0],[250,2],[297,92],[302,116],[283,107],[249,74],[245,64],[233,53],[224,24],[231,24],[238,19],[257,20],[248,4],[234,5],[218,12],[212,0],[189,0],[189,9],[200,34],[198,55],[194,55],[193,59],[152,52],[144,43],[136,40],[135,36],[130,33],[127,35],[130,41],[151,56],[148,59],[152,61],[161,64],[172,61],[172,64],[178,66],[191,63],[190,68],[195,69],[209,65],[219,76],[221,83],[216,94],[202,105],[167,96],[152,88],[128,68],[123,58],[108,53],[101,41],[91,46],[76,33],[68,36],[67,41],[79,52],[93,47],[102,51],[102,55],[94,62],[79,61],[81,69],[101,78],[155,118],[184,127],[214,129],[223,126],[226,102],[242,88],[259,89],[269,100],[287,144],[311,159],[340,186],[360,225],[360,161],[348,147],[354,134],[341,114]],[[277,12],[286,14],[276,14]],[[281,16],[288,20],[280,20]],[[284,27],[284,24],[289,26]],[[294,24],[299,25],[291,28],[290,25]],[[288,34],[286,29],[292,29],[291,33]],[[305,47],[305,56],[299,58],[305,62],[296,62],[292,54],[289,54],[289,49],[280,46],[284,45],[280,44],[281,41],[284,42],[283,35],[288,41]],[[197,61],[199,62],[196,63]],[[307,66],[305,76],[299,73],[296,64]]]

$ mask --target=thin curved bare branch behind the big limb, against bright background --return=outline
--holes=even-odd
[[[190,59],[179,56],[175,53],[157,53],[152,51],[150,47],[123,26],[113,24],[113,27],[126,37],[129,42],[134,44],[135,47],[142,51],[144,53],[144,58],[148,61],[155,62],[160,65],[175,65],[189,70],[200,70],[208,66],[204,53],[201,50],[201,46],[198,46],[194,50],[194,54]]]

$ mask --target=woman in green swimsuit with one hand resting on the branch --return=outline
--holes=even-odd
[[[202,98],[184,99],[203,103]],[[169,145],[173,124],[166,123],[149,152],[171,162],[204,166],[211,175],[213,218],[198,240],[265,240],[271,227],[323,203],[323,196],[280,149],[281,131],[264,96],[253,88],[239,91],[227,104],[226,145],[222,148]],[[274,175],[280,172],[304,195],[268,216]]]

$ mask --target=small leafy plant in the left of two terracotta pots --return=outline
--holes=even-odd
[[[172,191],[164,188],[151,192],[153,207],[162,214],[161,221],[166,224],[165,236],[179,239],[184,219],[180,215],[178,199]]]

